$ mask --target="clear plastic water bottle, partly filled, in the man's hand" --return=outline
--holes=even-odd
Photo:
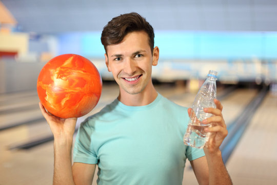
[[[206,133],[204,129],[212,125],[203,124],[202,121],[212,116],[212,114],[205,113],[204,108],[216,107],[213,101],[216,98],[216,75],[216,71],[209,71],[206,81],[201,86],[192,104],[188,128],[184,135],[184,143],[188,146],[202,149],[209,139],[209,133]]]

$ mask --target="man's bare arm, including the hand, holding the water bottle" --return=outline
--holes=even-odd
[[[199,184],[232,184],[231,178],[226,170],[222,160],[220,145],[227,136],[228,131],[222,116],[223,106],[219,100],[214,99],[216,108],[205,108],[206,113],[214,116],[203,120],[203,124],[212,124],[212,127],[205,128],[210,132],[210,138],[207,141],[204,152],[205,157],[191,161],[191,166]],[[189,109],[189,114],[191,109]]]

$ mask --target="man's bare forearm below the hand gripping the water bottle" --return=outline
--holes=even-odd
[[[209,167],[209,185],[232,184],[231,178],[222,160],[221,151],[214,154],[206,154]]]

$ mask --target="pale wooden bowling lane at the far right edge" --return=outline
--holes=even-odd
[[[269,93],[227,161],[234,184],[276,184],[276,105],[277,96]]]

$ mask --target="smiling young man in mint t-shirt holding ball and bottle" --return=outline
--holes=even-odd
[[[188,158],[199,184],[232,184],[219,149],[227,135],[222,105],[207,108],[214,133],[204,150],[183,143],[191,109],[157,93],[151,80],[159,60],[151,25],[137,13],[114,17],[103,29],[107,68],[120,87],[111,104],[87,118],[78,131],[71,167],[76,118],[43,115],[54,135],[53,184],[182,184]]]

